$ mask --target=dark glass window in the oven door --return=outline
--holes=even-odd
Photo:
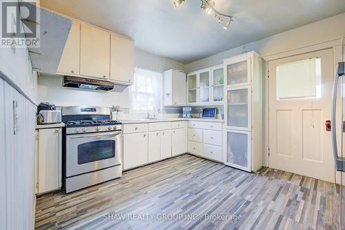
[[[78,164],[86,164],[115,157],[115,141],[101,140],[78,146]]]

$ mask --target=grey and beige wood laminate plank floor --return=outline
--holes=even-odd
[[[246,173],[181,155],[88,189],[43,195],[35,227],[340,229],[338,220],[335,184],[274,169]]]

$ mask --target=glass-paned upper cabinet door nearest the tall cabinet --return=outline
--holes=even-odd
[[[217,66],[212,68],[212,102],[223,103],[224,101],[224,68]]]

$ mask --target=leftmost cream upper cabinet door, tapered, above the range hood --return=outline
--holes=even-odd
[[[73,21],[70,34],[60,59],[58,73],[79,75],[80,61],[80,23]]]

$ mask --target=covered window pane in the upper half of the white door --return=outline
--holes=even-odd
[[[321,59],[277,66],[277,99],[321,98]]]

